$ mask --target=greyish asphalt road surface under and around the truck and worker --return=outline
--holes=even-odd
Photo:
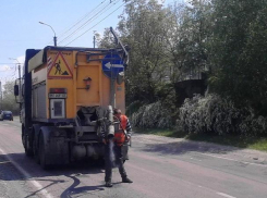
[[[104,169],[77,163],[44,171],[24,154],[19,120],[0,121],[0,198],[266,198],[267,153],[134,134],[125,163],[133,184],[106,188]]]

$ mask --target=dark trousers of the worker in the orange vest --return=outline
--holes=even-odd
[[[121,146],[117,145],[111,148],[110,143],[105,146],[105,182],[111,182],[113,166],[118,166],[122,178],[125,178],[128,176],[123,165],[121,148]]]

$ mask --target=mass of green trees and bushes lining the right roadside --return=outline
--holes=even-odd
[[[166,111],[187,133],[266,133],[267,1],[126,2],[117,30],[131,49],[126,103],[136,126],[157,127]],[[97,38],[112,47],[108,30]],[[178,113],[172,85],[203,71],[214,95],[187,99]]]

